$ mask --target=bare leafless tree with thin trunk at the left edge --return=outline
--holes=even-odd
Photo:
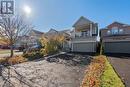
[[[32,26],[28,24],[22,16],[1,17],[0,19],[0,38],[9,40],[11,54],[13,56],[13,45],[19,37],[27,35]]]

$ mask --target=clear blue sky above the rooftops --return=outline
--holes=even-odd
[[[84,16],[104,28],[114,21],[130,24],[130,0],[15,0],[16,11],[25,5],[31,8],[27,21],[36,30],[47,32],[72,29]]]

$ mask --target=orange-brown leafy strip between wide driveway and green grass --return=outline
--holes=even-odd
[[[104,71],[105,62],[104,56],[98,56],[92,60],[81,87],[100,87],[100,77]]]

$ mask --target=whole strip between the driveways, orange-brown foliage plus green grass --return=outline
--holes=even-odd
[[[125,87],[106,56],[92,59],[80,87]]]

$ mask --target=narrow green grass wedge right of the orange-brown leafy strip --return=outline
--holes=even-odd
[[[101,76],[101,87],[125,87],[107,59],[105,70]]]

